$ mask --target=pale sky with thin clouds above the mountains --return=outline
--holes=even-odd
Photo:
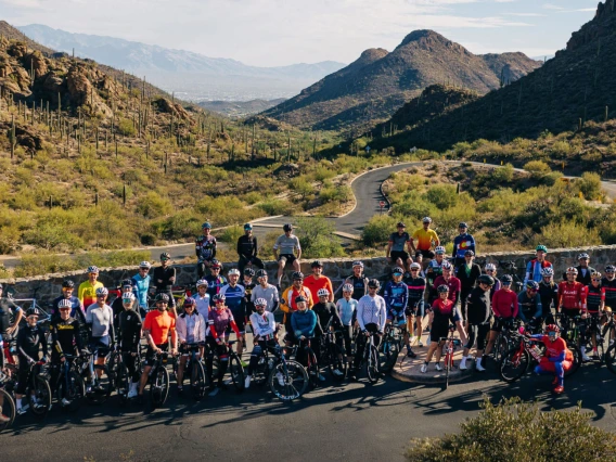
[[[553,54],[599,0],[0,0],[0,20],[278,66],[350,63],[433,29],[476,54]]]

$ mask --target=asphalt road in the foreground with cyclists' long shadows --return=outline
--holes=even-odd
[[[115,396],[103,407],[85,405],[76,414],[53,409],[43,421],[18,416],[0,435],[2,461],[402,461],[409,440],[454,433],[477,414],[484,396],[493,402],[519,396],[540,409],[572,409],[578,401],[593,424],[613,429],[616,376],[585,365],[561,396],[550,393],[551,377],[525,376],[506,385],[493,372],[469,382],[414,385],[390,377],[336,386],[326,382],[292,405],[267,389],[242,395],[231,389],[195,403],[171,393],[166,407],[143,412],[120,409]],[[171,390],[174,392],[174,385]]]

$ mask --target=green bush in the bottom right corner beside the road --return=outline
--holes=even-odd
[[[551,462],[615,460],[616,436],[590,424],[591,413],[540,412],[519,398],[493,406],[488,399],[478,416],[461,432],[441,438],[415,439],[409,462]]]

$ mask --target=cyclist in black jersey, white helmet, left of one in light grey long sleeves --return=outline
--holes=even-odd
[[[73,304],[68,298],[62,299],[57,304],[60,316],[54,319],[50,326],[51,333],[51,364],[52,364],[52,383],[57,380],[60,373],[60,365],[66,361],[65,354],[77,354],[81,350],[81,335],[79,334],[79,321],[70,316]],[[66,399],[66,387],[63,389],[62,406],[69,406],[70,401]]]

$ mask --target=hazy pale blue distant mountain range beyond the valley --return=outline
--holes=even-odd
[[[184,100],[252,100],[291,97],[307,85],[345,66],[324,61],[279,67],[248,66],[185,50],[114,37],[72,34],[40,24],[18,27],[28,38],[53,50],[89,57],[146,78]]]

